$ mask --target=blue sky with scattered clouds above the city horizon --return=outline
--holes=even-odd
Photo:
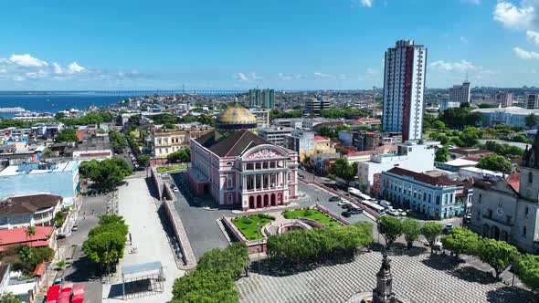
[[[369,89],[397,39],[427,86],[539,86],[539,0],[3,1],[0,89]]]

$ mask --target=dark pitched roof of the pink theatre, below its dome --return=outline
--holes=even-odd
[[[254,133],[245,130],[234,131],[234,133],[223,140],[216,140],[216,131],[211,131],[196,139],[196,141],[219,157],[236,157],[248,148],[261,144],[274,145]]]

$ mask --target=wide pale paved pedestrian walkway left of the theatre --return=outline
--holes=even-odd
[[[129,225],[132,246],[128,245],[118,270],[122,266],[132,266],[160,261],[164,266],[164,292],[143,298],[130,298],[129,302],[162,303],[172,299],[172,287],[176,277],[184,275],[176,266],[174,255],[168,244],[164,227],[157,213],[157,201],[151,195],[144,178],[129,180],[129,186],[121,186],[118,191],[119,214]],[[131,253],[132,248],[136,253]],[[112,279],[112,285],[103,286],[103,302],[117,302],[122,299],[121,273]]]

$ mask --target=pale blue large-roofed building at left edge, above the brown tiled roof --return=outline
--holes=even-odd
[[[0,201],[10,196],[49,193],[63,197],[62,207],[65,207],[75,203],[79,192],[76,161],[12,165],[0,171]]]

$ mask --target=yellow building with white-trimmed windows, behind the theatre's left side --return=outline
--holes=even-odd
[[[157,159],[164,159],[174,151],[189,148],[189,139],[196,139],[213,131],[209,126],[176,125],[176,129],[155,128],[152,131],[152,150]]]

